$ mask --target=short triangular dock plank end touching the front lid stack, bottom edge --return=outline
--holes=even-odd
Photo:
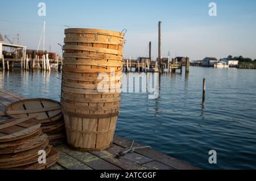
[[[60,165],[61,167],[68,170],[92,170],[92,168],[90,168],[89,166],[69,156],[68,154],[65,154],[63,151],[59,150],[59,152],[60,158],[57,161],[57,164]]]

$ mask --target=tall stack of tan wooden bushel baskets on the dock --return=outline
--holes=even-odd
[[[125,33],[65,30],[61,103],[68,144],[77,150],[112,145],[119,113]]]

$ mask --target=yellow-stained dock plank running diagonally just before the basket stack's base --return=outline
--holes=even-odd
[[[56,146],[59,150],[77,159],[78,161],[85,163],[92,169],[95,170],[119,170],[120,168],[113,165],[112,163],[106,162],[101,158],[96,157],[89,152],[74,151],[69,149],[66,145]]]

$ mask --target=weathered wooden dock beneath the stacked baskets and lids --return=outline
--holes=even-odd
[[[5,108],[23,96],[0,89],[0,120],[6,119]],[[115,136],[113,146],[104,151],[81,152],[66,145],[55,148],[60,151],[59,161],[51,170],[197,170],[199,168],[179,161],[152,149],[138,149],[124,157],[116,158],[119,151],[129,147],[131,141]],[[141,146],[135,143],[135,146]]]

